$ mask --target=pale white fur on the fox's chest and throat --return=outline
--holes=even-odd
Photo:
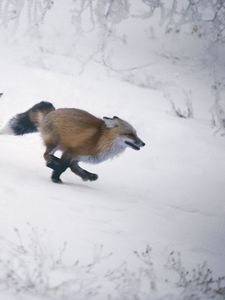
[[[112,146],[109,148],[108,151],[101,152],[95,156],[80,156],[77,158],[78,161],[87,162],[91,164],[98,164],[103,162],[107,159],[111,159],[120,153],[122,153],[126,149],[126,144],[124,143],[123,139],[117,138],[113,143]]]

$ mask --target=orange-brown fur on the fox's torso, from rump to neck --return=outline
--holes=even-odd
[[[95,156],[107,151],[118,136],[118,127],[107,128],[102,119],[79,109],[50,112],[40,126],[46,146],[55,146],[68,156]]]

